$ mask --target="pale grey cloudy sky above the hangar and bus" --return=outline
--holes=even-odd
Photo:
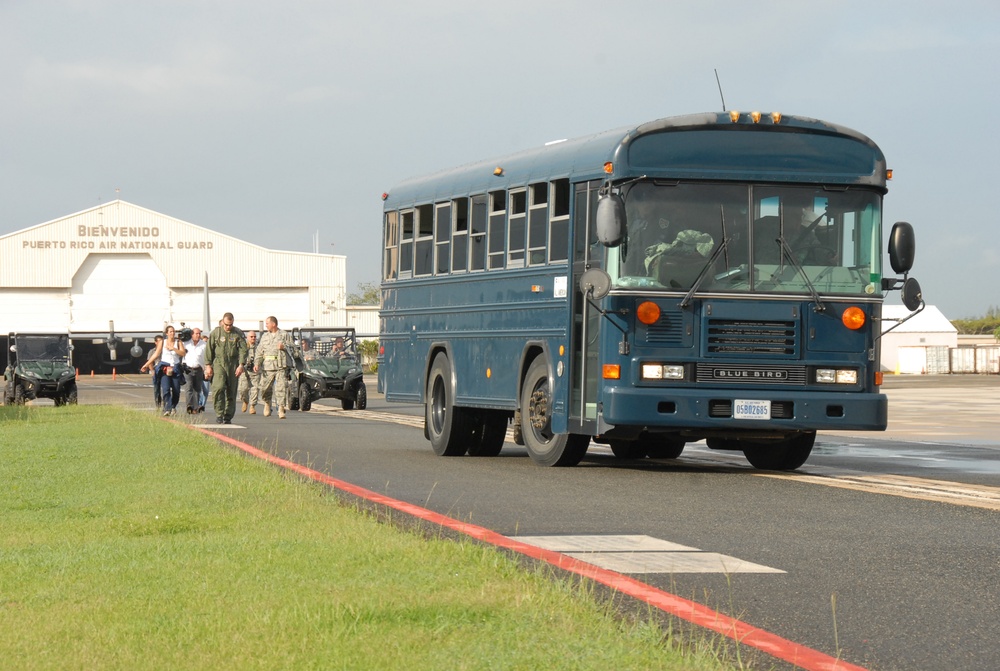
[[[998,63],[995,0],[0,0],[0,235],[121,198],[346,255],[353,291],[394,183],[719,110],[718,69],[729,109],[873,138],[928,302],[977,316],[1000,306]]]

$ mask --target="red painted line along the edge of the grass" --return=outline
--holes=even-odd
[[[247,454],[253,455],[258,459],[263,459],[264,461],[275,464],[276,466],[294,471],[295,473],[317,482],[321,482],[329,487],[333,487],[334,489],[345,491],[359,498],[371,501],[372,503],[377,503],[394,510],[399,510],[400,512],[412,515],[418,519],[426,520],[433,524],[445,527],[446,529],[463,533],[485,543],[490,543],[491,545],[512,550],[533,559],[547,562],[564,571],[569,571],[579,576],[589,578],[590,580],[602,585],[607,585],[622,594],[627,594],[655,608],[659,608],[666,613],[670,613],[671,615],[679,617],[683,620],[687,620],[688,622],[692,622],[701,627],[722,634],[723,636],[731,638],[742,645],[748,645],[752,648],[762,650],[773,657],[777,657],[778,659],[794,664],[795,666],[806,669],[807,671],[866,671],[864,667],[850,664],[818,650],[813,650],[812,648],[789,641],[786,638],[782,638],[776,634],[759,629],[741,620],[737,620],[736,618],[723,615],[722,613],[712,610],[707,606],[684,599],[676,594],[665,592],[661,589],[657,589],[656,587],[646,585],[645,583],[639,582],[638,580],[630,578],[627,575],[603,569],[598,566],[594,566],[593,564],[588,564],[587,562],[574,559],[573,557],[568,557],[560,552],[545,550],[534,545],[522,543],[514,540],[513,538],[508,538],[507,536],[498,534],[497,532],[485,527],[469,524],[467,522],[461,522],[446,515],[436,513],[433,510],[428,510],[427,508],[422,508],[412,503],[400,501],[398,499],[385,496],[384,494],[373,492],[370,489],[358,487],[357,485],[352,485],[349,482],[332,478],[325,473],[320,473],[319,471],[314,471],[311,468],[306,468],[300,464],[276,457],[269,452],[259,450],[252,445],[248,445],[244,442],[236,440],[235,438],[231,438],[230,436],[210,431],[202,427],[193,425],[190,426],[198,429],[205,435],[232,445],[233,447],[243,450]]]

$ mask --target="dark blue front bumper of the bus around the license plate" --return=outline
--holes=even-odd
[[[769,401],[770,417],[737,419],[738,401]],[[757,404],[758,406],[760,404]],[[885,394],[789,389],[611,388],[602,424],[665,431],[775,432],[884,431]]]

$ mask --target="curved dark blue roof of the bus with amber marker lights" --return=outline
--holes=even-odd
[[[843,126],[782,115],[775,122],[728,112],[667,117],[550,142],[397,184],[385,209],[568,178],[726,179],[866,185],[885,190],[885,157],[868,137]],[[497,174],[499,173],[499,174]]]

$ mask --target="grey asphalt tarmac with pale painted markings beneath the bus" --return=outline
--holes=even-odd
[[[81,403],[148,407],[143,383],[82,379]],[[821,434],[790,475],[704,444],[672,461],[592,445],[569,469],[512,443],[496,458],[437,457],[422,409],[369,389],[364,412],[321,402],[220,431],[507,536],[567,552],[598,542],[609,552],[583,556],[853,664],[1000,668],[996,376],[891,378],[885,434]]]

